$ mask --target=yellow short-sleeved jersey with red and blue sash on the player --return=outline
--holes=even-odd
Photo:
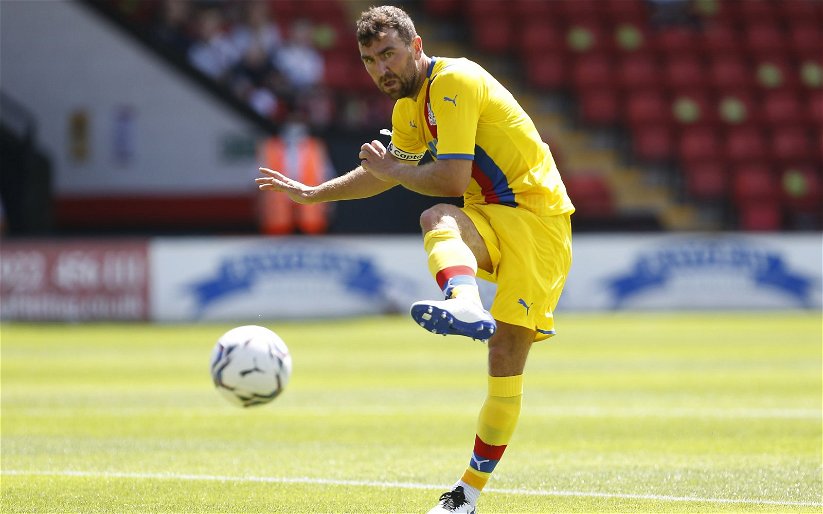
[[[468,59],[432,58],[417,98],[392,112],[389,152],[400,160],[472,161],[463,203],[501,204],[540,216],[574,212],[549,146],[512,94]]]

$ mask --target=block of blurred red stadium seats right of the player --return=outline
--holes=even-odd
[[[559,99],[552,105],[561,111],[573,105],[566,112],[575,129],[591,139],[606,130],[618,141],[620,162],[598,173],[575,164],[573,144],[564,148],[570,167],[563,172],[583,210],[594,212],[597,201],[617,212],[631,204],[621,184],[636,185],[639,165],[645,182],[661,169],[669,176],[670,201],[722,213],[717,228],[823,228],[823,2],[423,5],[432,17],[468,12],[472,46],[519,62],[536,98]],[[492,21],[514,38],[492,34]],[[551,137],[563,139],[559,132]],[[609,174],[615,177],[591,180]],[[604,185],[613,188],[609,195]]]

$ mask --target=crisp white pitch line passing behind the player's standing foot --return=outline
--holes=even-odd
[[[380,487],[380,488],[403,488],[403,489],[447,489],[448,485],[421,484],[415,482],[380,482],[373,480],[338,480],[329,478],[310,477],[233,477],[221,475],[190,475],[173,473],[123,473],[123,472],[96,472],[96,471],[25,471],[4,469],[0,471],[3,475],[18,476],[71,476],[85,478],[133,478],[139,480],[191,480],[207,482],[260,482],[273,484],[316,484],[316,485],[337,485],[354,487]],[[511,494],[516,496],[561,496],[580,498],[615,498],[627,500],[654,500],[669,502],[690,502],[690,503],[731,503],[731,504],[752,504],[752,505],[782,505],[798,507],[823,507],[823,502],[796,502],[767,499],[745,499],[745,498],[701,498],[697,496],[669,496],[658,494],[630,494],[630,493],[603,493],[596,491],[538,491],[533,489],[498,489],[488,488],[485,492]]]

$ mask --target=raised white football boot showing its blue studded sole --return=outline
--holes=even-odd
[[[492,315],[477,302],[461,300],[423,300],[412,304],[414,321],[429,332],[461,335],[488,341],[497,329]]]

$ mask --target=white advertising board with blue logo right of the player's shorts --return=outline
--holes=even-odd
[[[581,235],[561,310],[821,308],[823,237]]]

